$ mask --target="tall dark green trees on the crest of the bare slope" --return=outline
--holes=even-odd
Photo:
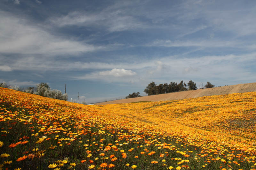
[[[204,86],[204,88],[212,88],[215,85],[212,85],[210,82]],[[164,83],[156,85],[155,82],[151,82],[148,86],[144,89],[144,92],[147,95],[156,95],[156,94],[165,94],[171,92],[181,92],[187,90],[196,90],[196,83],[190,80],[187,84],[183,82],[183,80],[177,84],[176,82],[171,82],[170,84]]]

